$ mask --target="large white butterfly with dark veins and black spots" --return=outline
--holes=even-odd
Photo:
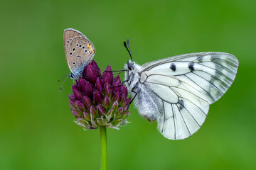
[[[125,84],[139,114],[157,120],[164,137],[181,140],[201,127],[210,104],[233,83],[238,59],[225,52],[197,52],[142,66],[129,60],[124,68]]]

